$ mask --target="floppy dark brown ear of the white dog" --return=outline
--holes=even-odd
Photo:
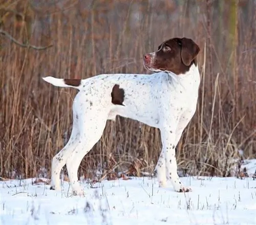
[[[197,57],[200,48],[189,38],[181,38],[181,60],[185,65],[190,65],[191,62]]]

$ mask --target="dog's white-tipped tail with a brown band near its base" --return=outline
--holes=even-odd
[[[74,87],[78,90],[81,88],[81,79],[59,79],[55,77],[42,77],[46,82],[58,87]]]

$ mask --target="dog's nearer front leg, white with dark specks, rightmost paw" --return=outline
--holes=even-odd
[[[164,152],[166,166],[166,176],[172,182],[175,191],[188,192],[190,189],[183,186],[177,173],[177,161],[175,156],[176,127],[177,126],[172,123],[172,127],[163,127],[160,129],[162,139],[162,152]]]

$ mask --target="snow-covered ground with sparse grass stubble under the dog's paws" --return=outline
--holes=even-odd
[[[2,181],[0,224],[256,224],[256,180],[181,179],[192,192],[158,188],[156,178],[146,177],[103,181],[94,188],[83,183],[84,197],[72,196],[67,182],[53,191],[35,179]]]

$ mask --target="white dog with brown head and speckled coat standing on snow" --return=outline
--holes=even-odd
[[[74,195],[82,195],[77,172],[83,157],[99,141],[107,120],[117,115],[159,128],[162,149],[156,165],[159,187],[170,179],[176,192],[188,192],[177,173],[175,148],[194,116],[200,73],[199,46],[189,38],[172,38],[143,56],[148,74],[100,74],[88,79],[44,77],[59,87],[79,90],[73,102],[73,128],[65,147],[52,160],[52,190],[60,190],[66,164]]]

